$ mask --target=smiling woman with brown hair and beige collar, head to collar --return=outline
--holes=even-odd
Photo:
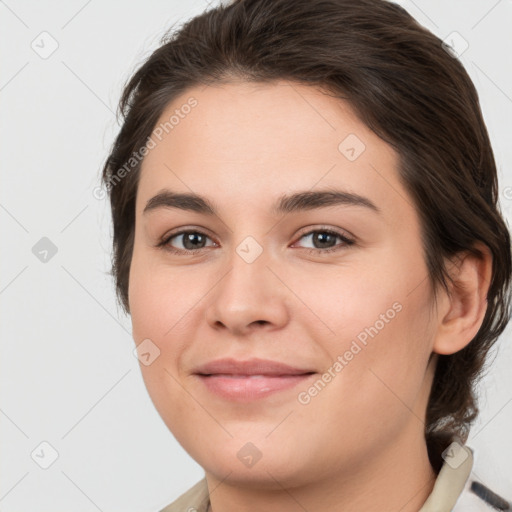
[[[511,274],[460,62],[383,0],[240,0],[170,35],[120,110],[117,293],[205,470],[164,510],[460,507]]]

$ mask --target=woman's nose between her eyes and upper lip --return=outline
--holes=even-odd
[[[252,262],[233,251],[221,275],[208,294],[206,320],[213,329],[244,335],[280,329],[289,321],[290,291],[265,251]]]

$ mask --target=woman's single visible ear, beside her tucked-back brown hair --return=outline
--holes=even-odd
[[[438,300],[438,328],[432,347],[437,354],[454,354],[476,336],[487,311],[487,293],[492,275],[492,254],[478,242],[479,255],[465,251],[448,263],[453,284]]]

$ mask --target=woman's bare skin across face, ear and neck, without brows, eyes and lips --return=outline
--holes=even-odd
[[[424,440],[435,354],[477,333],[488,251],[454,260],[464,292],[441,292],[434,307],[398,156],[347,103],[285,81],[230,82],[186,91],[161,122],[191,97],[197,106],[145,157],[136,201],[129,303],[135,342],[160,350],[141,364],[159,414],[204,468],[214,512],[419,510],[436,477]],[[354,161],[338,150],[349,134],[366,146]],[[207,197],[217,214],[143,213],[165,188]],[[272,213],[282,194],[330,189],[363,195],[380,212]],[[180,228],[205,233],[204,248],[157,247]],[[339,250],[321,254],[325,245],[308,234],[322,228],[355,243],[335,237],[328,248]],[[248,236],[262,248],[252,263],[236,251]],[[168,245],[186,251],[183,243]],[[313,381],[240,404],[193,375],[213,359],[261,357],[312,368],[317,380],[394,303],[400,312],[308,404],[297,396]],[[237,457],[248,442],[261,453],[252,467]]]

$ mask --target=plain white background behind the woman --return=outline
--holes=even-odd
[[[469,43],[460,58],[480,94],[510,225],[512,1],[400,3],[442,39],[456,31]],[[3,512],[156,511],[203,476],[144,387],[130,319],[107,274],[108,203],[92,191],[118,130],[125,80],[172,23],[207,6],[0,1]],[[43,31],[58,43],[45,59],[31,47],[51,48]],[[57,248],[46,263],[32,252],[43,237]],[[510,342],[508,328],[468,444],[476,476],[512,500]],[[35,462],[50,461],[43,441],[58,453],[48,469]]]

